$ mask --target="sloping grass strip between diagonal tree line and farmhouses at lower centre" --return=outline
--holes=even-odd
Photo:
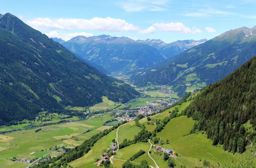
[[[97,158],[100,158],[100,155],[104,150],[110,147],[112,139],[116,137],[116,129],[110,132],[108,135],[103,136],[99,141],[97,141],[92,149],[84,156],[80,157],[69,163],[73,167],[98,167],[94,165],[94,162]]]

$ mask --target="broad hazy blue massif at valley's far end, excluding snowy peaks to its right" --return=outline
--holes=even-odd
[[[164,60],[156,48],[126,37],[77,36],[62,45],[81,59],[110,72],[128,73]]]

